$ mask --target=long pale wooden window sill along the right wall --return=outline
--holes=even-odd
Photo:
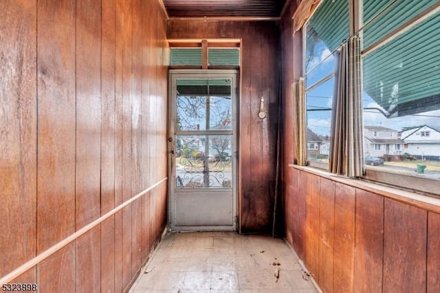
[[[335,175],[327,171],[324,171],[322,169],[317,169],[311,166],[298,166],[294,164],[289,164],[289,167],[298,169],[300,171],[305,171],[307,173],[311,173],[314,175],[318,175],[320,177],[325,177],[334,182],[339,182],[342,184],[353,186],[355,188],[360,188],[364,191],[376,193],[377,195],[382,195],[384,197],[395,199],[399,202],[410,204],[411,206],[423,208],[424,210],[430,210],[434,213],[440,213],[440,198],[426,194],[421,194],[419,193],[419,191],[409,191],[406,189],[397,188],[395,186],[386,185],[379,182],[371,182],[364,179],[351,179],[348,177]],[[417,178],[417,180],[419,179],[421,178]],[[437,182],[437,180],[435,180],[435,182]],[[419,186],[419,184],[417,186]]]

